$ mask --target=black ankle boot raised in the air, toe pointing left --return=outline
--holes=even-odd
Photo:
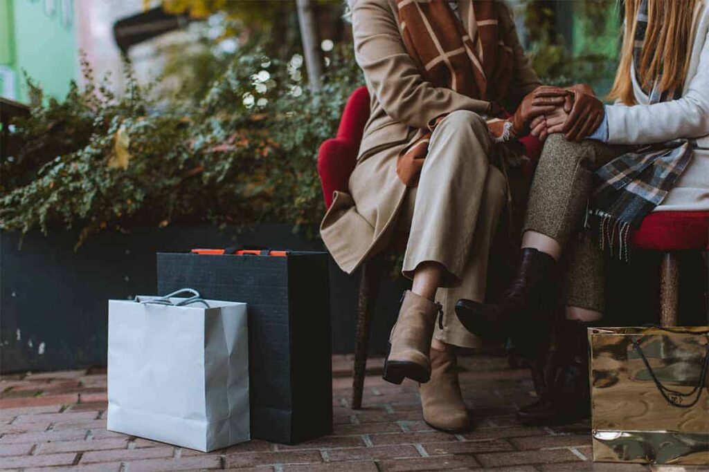
[[[501,339],[509,335],[525,355],[538,356],[548,340],[549,311],[542,306],[556,285],[557,262],[552,256],[524,248],[515,280],[499,304],[460,299],[455,305],[458,319],[481,338]]]

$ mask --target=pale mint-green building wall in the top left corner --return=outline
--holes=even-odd
[[[0,1],[0,95],[26,102],[23,71],[63,98],[78,70],[74,0]]]

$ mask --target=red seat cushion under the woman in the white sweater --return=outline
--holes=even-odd
[[[651,251],[709,250],[709,212],[654,212],[632,234],[632,246]]]

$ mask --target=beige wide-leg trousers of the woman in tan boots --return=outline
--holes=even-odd
[[[454,306],[467,298],[484,301],[488,260],[507,183],[492,166],[487,125],[476,113],[447,115],[432,133],[418,187],[408,189],[398,228],[409,232],[403,274],[433,261],[447,270],[436,300],[443,306],[442,328],[434,337],[461,347],[479,338],[458,321]]]

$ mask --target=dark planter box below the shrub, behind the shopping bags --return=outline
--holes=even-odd
[[[316,232],[315,228],[311,231]],[[247,228],[168,226],[135,228],[130,234],[98,234],[74,253],[75,231],[0,234],[1,372],[77,369],[106,364],[108,299],[157,292],[156,253],[194,247],[245,245],[323,251],[318,239],[294,234],[289,225]],[[333,352],[354,350],[356,276],[330,260]],[[403,281],[382,278],[371,348],[384,352]]]

